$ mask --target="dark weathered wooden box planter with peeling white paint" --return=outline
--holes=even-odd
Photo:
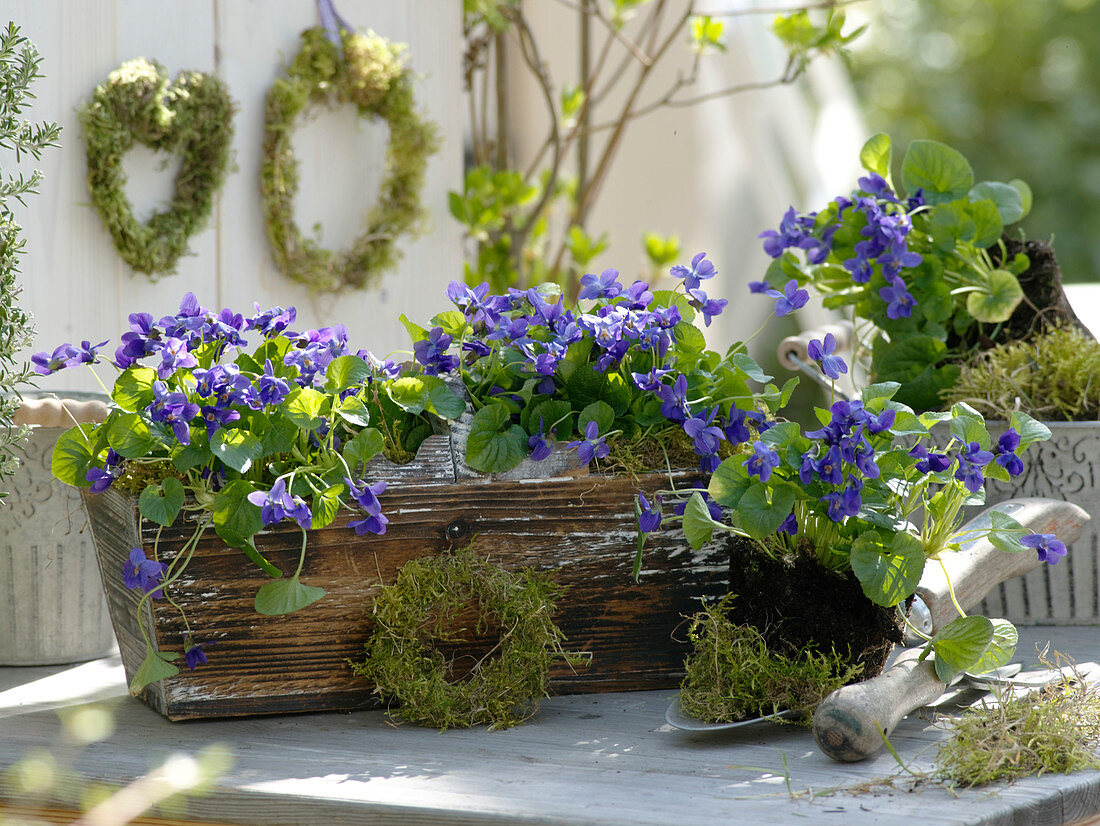
[[[382,499],[391,520],[386,535],[356,537],[345,527],[354,518],[346,514],[309,531],[301,580],[328,594],[294,614],[256,614],[253,599],[266,575],[208,530],[169,595],[186,612],[194,638],[213,641],[209,662],[182,668],[141,698],[169,719],[377,707],[381,698],[352,675],[348,660],[362,657],[380,583],[392,583],[410,559],[474,537],[477,550],[505,569],[546,570],[568,586],[554,618],[566,650],[591,652],[592,661],[576,672],[556,667],[556,693],[675,687],[688,650],[684,615],[697,609],[700,597],[727,587],[723,543],[693,552],[679,530],[649,537],[640,582],[634,581],[632,498],[638,491],[668,488],[663,474],[590,476],[582,469],[552,478],[471,478],[457,473],[449,438],[438,436],[411,464],[381,463],[367,477],[389,483]],[[685,473],[676,484],[692,481]],[[139,623],[157,647],[172,651],[182,650],[184,624],[163,599],[146,603],[139,616],[139,592],[123,585],[130,550],[143,546],[152,555],[157,530],[141,520],[136,498],[108,489],[85,499],[129,679],[145,654]],[[169,561],[191,532],[190,524],[163,529],[160,559]],[[256,544],[293,572],[301,532],[290,524],[257,535]],[[484,652],[495,641],[471,640],[455,654]]]

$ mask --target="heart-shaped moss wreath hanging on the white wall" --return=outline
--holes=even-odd
[[[91,201],[136,272],[173,273],[190,235],[206,225],[229,169],[235,110],[212,75],[183,71],[172,82],[163,66],[144,57],[108,75],[80,109]],[[134,141],[182,161],[169,208],[147,223],[134,218],[125,194],[122,157]]]

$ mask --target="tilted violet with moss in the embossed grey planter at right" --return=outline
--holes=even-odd
[[[983,450],[1011,439],[1018,411],[1054,429],[1022,474],[990,482],[990,503],[1044,496],[1094,509],[1094,426],[1050,419],[1096,418],[1088,375],[1097,345],[1065,296],[1052,245],[1019,227],[1009,232],[1030,211],[1030,188],[976,183],[970,163],[934,141],[911,144],[900,187],[889,136],[871,137],[860,161],[867,175],[850,194],[817,212],[792,208],[762,233],[774,260],[752,288],[793,278],[816,289],[854,322],[856,386],[899,382],[898,399],[915,409],[965,404],[996,417]],[[1097,527],[1079,541],[1087,553],[1001,585],[990,609],[1019,620],[1100,620]]]

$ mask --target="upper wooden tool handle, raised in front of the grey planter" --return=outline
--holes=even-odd
[[[1011,516],[1032,533],[1056,533],[1066,544],[1081,535],[1081,529],[1089,521],[1089,515],[1069,502],[1042,498],[1009,499],[985,510],[964,526],[963,530],[982,530],[990,526],[990,514],[993,510]],[[991,588],[1022,576],[1038,568],[1038,553],[1032,549],[1014,553],[996,548],[985,536],[963,544],[958,552],[947,551],[941,554],[944,569],[936,562],[930,562],[916,587],[916,595],[924,601],[932,614],[932,628],[938,631],[955,619],[959,614],[952,604],[947,587],[948,577],[955,590],[963,610],[969,610],[980,603]]]

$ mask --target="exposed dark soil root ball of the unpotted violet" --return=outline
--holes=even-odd
[[[897,608],[883,608],[865,596],[854,575],[829,571],[809,557],[773,559],[747,539],[729,540],[729,618],[750,625],[777,652],[795,654],[809,643],[818,651],[850,653],[862,663],[860,680],[886,665],[902,641]]]

